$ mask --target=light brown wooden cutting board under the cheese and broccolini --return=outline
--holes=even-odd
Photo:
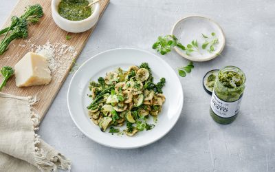
[[[5,54],[0,56],[0,67],[14,65],[30,51],[35,52],[37,48],[48,43],[47,47],[52,47],[54,50],[54,72],[52,72],[52,81],[49,85],[33,86],[33,87],[21,87],[18,88],[15,85],[15,77],[12,76],[8,80],[7,85],[2,89],[2,92],[7,94],[13,94],[17,96],[34,96],[37,95],[40,99],[39,103],[34,106],[36,111],[39,112],[40,120],[45,116],[47,109],[49,109],[52,101],[54,100],[58,90],[63,85],[63,82],[69,74],[71,68],[74,66],[74,61],[78,58],[78,55],[83,50],[91,32],[94,28],[80,34],[72,34],[72,39],[69,41],[66,39],[68,34],[54,23],[51,12],[51,1],[50,0],[20,0],[15,6],[14,10],[10,14],[10,17],[16,15],[18,17],[23,14],[25,6],[34,5],[36,3],[41,4],[44,11],[44,16],[41,18],[39,23],[36,25],[30,25],[28,28],[29,36],[28,39],[19,39],[12,41],[9,46],[9,50]],[[107,8],[109,0],[100,1],[100,17],[104,10]],[[10,17],[3,25],[3,28],[10,25]],[[0,37],[2,39],[3,36]],[[0,77],[0,80],[2,78]],[[1,105],[0,105],[1,108]]]

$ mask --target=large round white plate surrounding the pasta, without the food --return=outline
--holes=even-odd
[[[155,128],[150,131],[141,131],[133,137],[100,131],[94,125],[87,113],[87,105],[91,99],[88,86],[91,80],[97,80],[99,76],[104,76],[106,72],[113,71],[118,67],[128,69],[131,65],[140,65],[147,62],[153,72],[155,83],[161,77],[166,78],[166,85],[163,88],[166,102],[163,105],[161,114],[157,118]],[[149,52],[137,49],[114,49],[102,52],[89,58],[74,74],[67,94],[69,113],[76,126],[87,137],[95,142],[107,147],[119,149],[131,149],[143,147],[162,138],[177,122],[184,104],[184,93],[177,74],[162,58]],[[148,123],[153,123],[153,119]],[[124,126],[125,127],[125,126]],[[122,130],[121,130],[122,131]]]

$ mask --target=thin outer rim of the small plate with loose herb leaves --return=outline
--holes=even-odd
[[[188,18],[192,18],[192,17],[198,17],[198,18],[202,18],[202,19],[207,19],[208,21],[214,23],[215,25],[217,25],[217,27],[219,28],[219,30],[221,30],[221,35],[223,38],[223,45],[221,46],[221,49],[219,50],[219,52],[217,52],[216,54],[212,54],[212,56],[208,57],[208,58],[203,58],[203,59],[197,59],[194,58],[192,56],[188,56],[187,54],[184,54],[181,52],[181,50],[179,50],[178,47],[174,47],[175,51],[177,52],[177,54],[179,54],[180,56],[190,60],[190,61],[197,61],[197,62],[203,62],[203,61],[210,61],[213,58],[216,58],[219,54],[221,54],[221,52],[223,51],[224,47],[225,47],[225,34],[223,32],[223,29],[221,28],[221,26],[219,25],[219,23],[217,23],[216,21],[210,19],[209,17],[203,16],[203,15],[199,15],[199,14],[194,14],[194,15],[186,15],[184,17],[182,17],[181,19],[179,19],[172,27],[172,30],[170,32],[171,35],[173,35],[174,30],[177,26],[178,23],[180,23],[181,21],[188,19]]]

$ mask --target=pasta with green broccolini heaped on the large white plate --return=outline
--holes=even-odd
[[[139,67],[132,65],[128,70],[120,67],[91,81],[90,105],[87,106],[90,119],[109,133],[119,132],[113,127],[121,127],[126,122],[124,133],[133,136],[138,131],[153,129],[148,124],[148,116],[157,116],[162,111],[165,96],[162,94],[166,80],[153,83],[153,75],[148,63]]]

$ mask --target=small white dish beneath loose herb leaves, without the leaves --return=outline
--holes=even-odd
[[[186,52],[179,47],[175,47],[176,52],[190,61],[209,61],[215,58],[217,54],[220,54],[225,46],[223,30],[218,23],[212,21],[212,19],[201,16],[188,16],[180,19],[173,26],[171,34],[174,34],[182,45],[187,45],[191,43],[192,40],[197,39],[199,47],[201,47],[204,42],[201,34],[211,36],[212,32],[214,32],[216,34],[215,36],[219,39],[219,44],[215,45],[214,52],[210,53],[207,50],[201,49],[201,54],[192,52],[190,55],[187,55]]]

